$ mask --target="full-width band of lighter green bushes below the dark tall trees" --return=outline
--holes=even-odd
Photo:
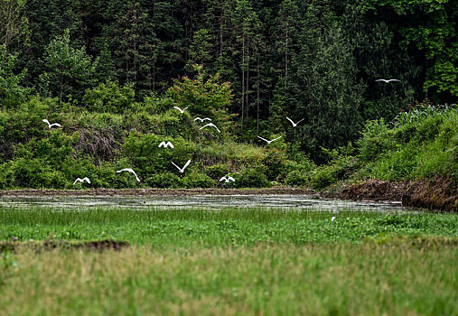
[[[12,188],[210,188],[307,186],[321,190],[337,181],[404,181],[441,175],[458,181],[458,108],[422,103],[392,122],[369,121],[360,139],[322,149],[329,163],[317,166],[285,137],[272,144],[254,137],[238,142],[227,111],[228,82],[198,74],[174,81],[162,97],[135,101],[129,86],[107,82],[82,101],[30,97],[0,112],[0,189]],[[174,107],[188,107],[183,113]],[[195,117],[210,117],[200,129]],[[61,128],[42,122],[47,118]],[[292,127],[293,128],[293,127]],[[298,126],[296,128],[301,128]],[[261,135],[274,138],[282,135]],[[160,148],[162,142],[174,148]],[[179,172],[173,163],[192,163]],[[117,170],[133,168],[141,181]],[[220,182],[224,175],[236,181]],[[76,178],[91,183],[73,185]]]

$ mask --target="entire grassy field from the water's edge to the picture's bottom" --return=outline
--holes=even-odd
[[[456,315],[457,219],[0,207],[0,313]]]

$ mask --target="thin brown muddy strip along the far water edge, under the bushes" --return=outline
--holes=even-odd
[[[94,190],[5,190],[0,196],[148,196],[148,195],[313,195],[317,194],[310,189],[300,188],[269,188],[269,189],[94,189]]]

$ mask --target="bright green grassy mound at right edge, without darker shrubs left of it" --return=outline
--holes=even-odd
[[[456,181],[458,110],[455,105],[432,107],[420,104],[401,113],[389,128],[369,122],[359,145],[358,172],[381,180],[450,176]]]

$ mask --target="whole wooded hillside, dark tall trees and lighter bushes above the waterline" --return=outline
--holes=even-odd
[[[0,0],[0,189],[456,185],[457,22],[453,0]]]

